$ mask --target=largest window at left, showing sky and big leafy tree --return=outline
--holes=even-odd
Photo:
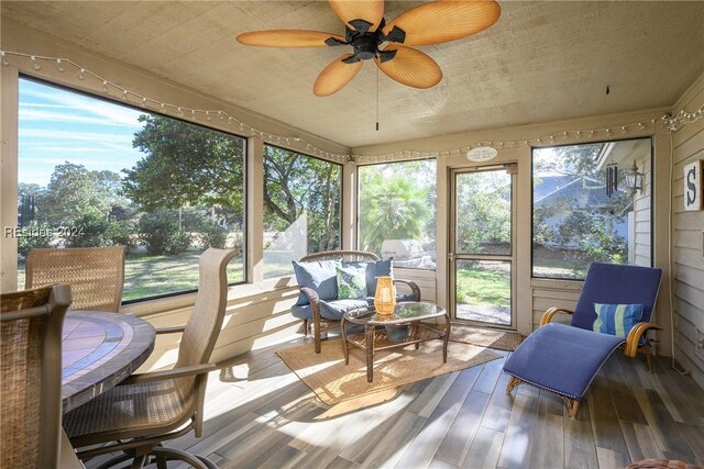
[[[32,247],[127,245],[123,300],[198,288],[207,247],[244,281],[245,139],[20,80],[19,286]]]

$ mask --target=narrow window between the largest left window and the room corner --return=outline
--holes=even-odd
[[[264,278],[292,275],[292,260],[340,249],[342,166],[264,146]]]

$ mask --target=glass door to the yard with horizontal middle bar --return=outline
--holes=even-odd
[[[515,168],[509,165],[452,171],[448,258],[453,320],[516,328]]]

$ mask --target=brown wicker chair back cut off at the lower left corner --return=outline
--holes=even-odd
[[[0,467],[56,468],[65,284],[0,295]],[[66,455],[67,456],[67,455]]]

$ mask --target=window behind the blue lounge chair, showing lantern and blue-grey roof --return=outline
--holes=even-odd
[[[583,279],[595,261],[650,266],[651,175],[650,138],[535,148],[534,277]]]

